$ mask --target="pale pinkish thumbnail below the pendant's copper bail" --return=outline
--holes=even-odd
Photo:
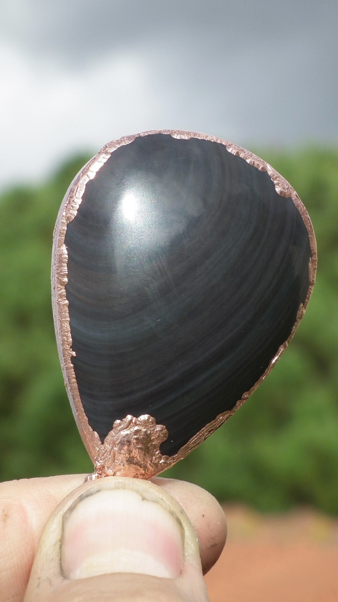
[[[113,485],[98,484],[85,491],[64,515],[64,577],[105,573],[178,577],[185,544],[179,516],[140,481],[132,489],[124,486],[123,479]]]

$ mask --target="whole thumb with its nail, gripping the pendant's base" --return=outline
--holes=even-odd
[[[24,602],[206,602],[197,536],[149,481],[105,477],[65,498],[43,531]]]

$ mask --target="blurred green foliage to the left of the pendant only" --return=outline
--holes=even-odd
[[[51,308],[52,234],[88,157],[0,199],[1,479],[91,471],[60,370]]]

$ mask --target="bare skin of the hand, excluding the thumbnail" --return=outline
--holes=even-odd
[[[182,520],[185,556],[179,577],[115,573],[64,578],[60,534],[67,509],[80,494],[116,485],[116,477],[83,485],[84,479],[80,474],[0,484],[0,602],[206,602],[203,574],[223,550],[226,519],[212,495],[173,479],[157,477],[150,484],[138,481],[133,485],[145,497],[163,498],[171,514]]]

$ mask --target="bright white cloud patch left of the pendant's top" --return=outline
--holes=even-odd
[[[0,81],[2,185],[41,178],[72,152],[150,128],[156,112],[140,55],[116,54],[72,73],[0,48]]]

